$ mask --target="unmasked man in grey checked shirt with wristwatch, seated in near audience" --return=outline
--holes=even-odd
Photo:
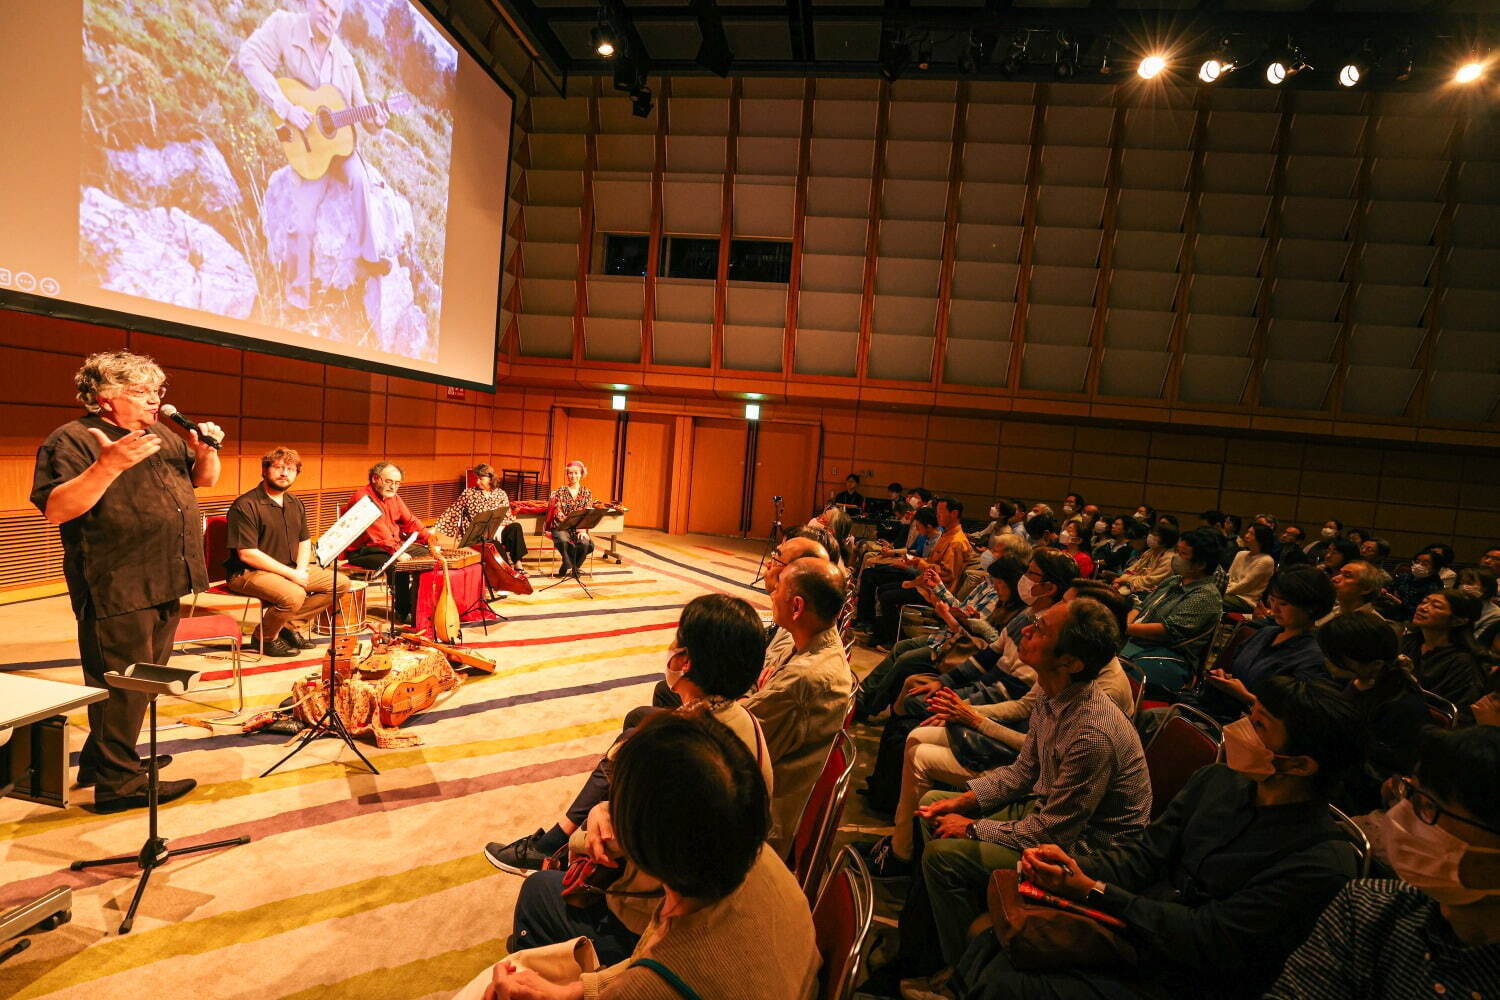
[[[1014,867],[1024,849],[1060,843],[1094,853],[1144,829],[1150,778],[1140,738],[1095,684],[1118,646],[1114,616],[1098,601],[1056,604],[1026,628],[1022,657],[1042,697],[1020,757],[962,795],[924,798],[900,954],[879,979],[930,972],[933,937],[942,964],[957,963],[969,924],[984,912],[990,873]]]

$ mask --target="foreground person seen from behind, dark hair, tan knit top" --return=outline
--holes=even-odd
[[[753,754],[724,726],[675,714],[642,724],[615,760],[614,837],[663,888],[645,933],[626,958],[567,987],[500,963],[482,973],[494,996],[813,1000],[812,913],[765,844],[768,799]]]

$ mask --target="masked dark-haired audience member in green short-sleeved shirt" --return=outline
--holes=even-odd
[[[1166,525],[1156,526],[1166,532]],[[1198,528],[1178,541],[1172,576],[1131,612],[1130,642],[1122,654],[1144,675],[1148,687],[1174,697],[1192,678],[1224,610],[1214,570],[1220,538]],[[1124,577],[1122,577],[1124,579]]]

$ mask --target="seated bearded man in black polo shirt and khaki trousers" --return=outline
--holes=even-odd
[[[261,459],[261,483],[230,505],[225,586],[261,601],[254,639],[267,657],[312,649],[308,622],[333,603],[333,573],[312,562],[308,510],[291,493],[302,456],[273,448]],[[339,592],[350,582],[339,580]]]

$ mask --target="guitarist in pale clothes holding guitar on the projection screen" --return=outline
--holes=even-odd
[[[318,208],[346,187],[360,279],[392,268],[376,213],[370,211],[372,178],[356,151],[356,129],[380,130],[405,97],[370,102],[354,55],[339,39],[344,0],[304,0],[303,12],[278,10],[240,46],[236,63],[270,106],[278,138],[297,172],[286,217],[267,219],[267,231],[290,235],[280,264],[288,304],[312,309],[320,282],[314,270]],[[342,192],[338,192],[342,193]]]

